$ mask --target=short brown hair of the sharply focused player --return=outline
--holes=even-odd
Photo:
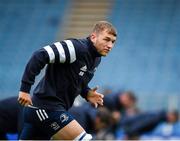
[[[109,34],[117,36],[116,29],[108,21],[99,21],[99,22],[97,22],[93,27],[93,32],[100,33],[100,32],[102,32],[102,31],[104,31],[106,29],[107,29]]]

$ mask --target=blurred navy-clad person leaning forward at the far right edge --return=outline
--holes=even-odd
[[[178,113],[157,110],[122,117],[119,129],[116,130],[116,139],[139,139],[142,135],[149,137],[145,139],[151,139],[153,136],[180,137],[179,133]]]

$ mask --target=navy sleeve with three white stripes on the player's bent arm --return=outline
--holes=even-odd
[[[71,40],[64,40],[48,45],[34,52],[26,65],[20,91],[30,92],[35,77],[46,64],[73,63],[76,61],[76,50]]]

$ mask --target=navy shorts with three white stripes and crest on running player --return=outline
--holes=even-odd
[[[74,118],[67,111],[51,111],[36,107],[24,108],[21,140],[49,140]]]

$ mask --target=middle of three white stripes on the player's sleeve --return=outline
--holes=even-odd
[[[59,62],[64,63],[66,61],[66,55],[65,55],[63,46],[61,45],[60,42],[56,42],[56,43],[54,43],[54,45],[56,46],[56,48],[59,52]]]

